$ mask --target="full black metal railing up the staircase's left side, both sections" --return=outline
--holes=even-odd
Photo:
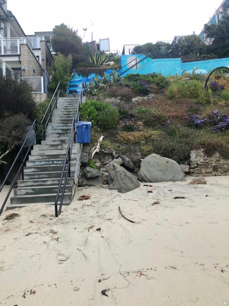
[[[62,93],[64,95],[64,93],[67,90],[69,90],[69,89],[68,89],[68,87],[67,88],[63,88],[63,86],[60,83],[57,85],[56,90],[55,90],[55,92],[53,94],[53,97],[52,97],[52,99],[51,99],[51,101],[50,101],[50,103],[49,103],[49,105],[48,105],[48,107],[46,109],[44,117],[42,118],[42,121],[39,122],[36,119],[33,121],[32,125],[31,125],[31,128],[29,129],[29,131],[28,131],[28,133],[27,133],[27,135],[25,137],[25,140],[24,140],[24,142],[23,142],[23,144],[22,144],[22,146],[21,146],[21,148],[20,148],[16,158],[13,161],[12,166],[10,167],[8,173],[5,176],[5,179],[4,179],[4,181],[3,181],[3,183],[2,183],[2,185],[0,187],[0,192],[2,191],[3,187],[5,186],[5,184],[7,182],[7,179],[9,178],[9,175],[10,175],[13,167],[15,166],[16,162],[20,160],[21,163],[20,163],[19,169],[18,169],[18,171],[17,171],[17,173],[16,173],[16,175],[15,175],[15,177],[13,179],[13,182],[12,182],[10,188],[9,188],[9,191],[8,191],[6,197],[5,197],[5,200],[3,201],[2,206],[0,208],[0,215],[1,215],[1,213],[2,213],[2,211],[4,209],[4,207],[5,207],[5,204],[6,204],[7,200],[8,200],[8,198],[9,198],[9,195],[10,195],[12,189],[13,189],[14,184],[16,183],[16,180],[17,180],[20,172],[21,172],[21,179],[22,179],[22,181],[24,181],[24,163],[25,163],[25,161],[27,159],[27,156],[28,156],[28,154],[30,152],[31,147],[34,145],[33,143],[34,143],[35,139],[36,139],[36,144],[38,144],[38,135],[39,135],[38,134],[38,125],[43,125],[43,130],[42,130],[42,133],[41,133],[40,136],[44,135],[44,140],[45,140],[45,129],[46,129],[48,123],[49,123],[49,119],[50,119],[50,122],[52,122],[52,112],[53,112],[53,109],[54,109],[55,106],[57,108],[57,99],[58,99],[59,96],[61,96],[61,90],[62,90]],[[53,106],[52,106],[52,102],[53,102],[54,97],[55,97],[55,102],[53,103]],[[49,113],[48,119],[45,121],[45,116],[48,113]],[[28,146],[27,151],[25,152],[24,146],[25,146],[28,138],[31,135],[33,135],[33,134],[31,134],[31,132],[34,133],[34,136],[32,136],[33,138],[32,138],[32,140],[31,140],[31,142],[30,142],[30,144]]]

